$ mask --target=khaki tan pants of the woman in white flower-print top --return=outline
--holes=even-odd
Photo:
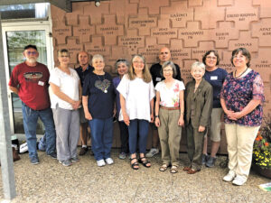
[[[180,110],[159,109],[158,134],[161,143],[163,164],[179,166],[179,150],[182,127],[178,125]]]

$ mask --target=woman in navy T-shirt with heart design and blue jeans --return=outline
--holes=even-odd
[[[85,78],[83,107],[91,130],[92,151],[99,167],[113,164],[111,146],[113,142],[114,87],[111,76],[104,71],[102,55],[92,58],[93,72]]]

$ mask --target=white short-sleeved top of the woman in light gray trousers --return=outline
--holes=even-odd
[[[51,70],[49,82],[61,88],[61,92],[72,100],[79,101],[79,76],[74,69],[70,69],[69,75],[57,67],[54,68]],[[64,109],[73,109],[70,103],[51,93],[51,108],[56,108],[57,105]]]

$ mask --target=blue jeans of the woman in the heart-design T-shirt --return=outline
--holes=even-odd
[[[93,118],[89,121],[89,127],[95,159],[99,161],[109,158],[113,143],[113,118]]]

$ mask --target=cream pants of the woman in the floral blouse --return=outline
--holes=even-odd
[[[250,127],[225,124],[229,152],[229,171],[248,179],[252,161],[253,143],[260,126]]]

